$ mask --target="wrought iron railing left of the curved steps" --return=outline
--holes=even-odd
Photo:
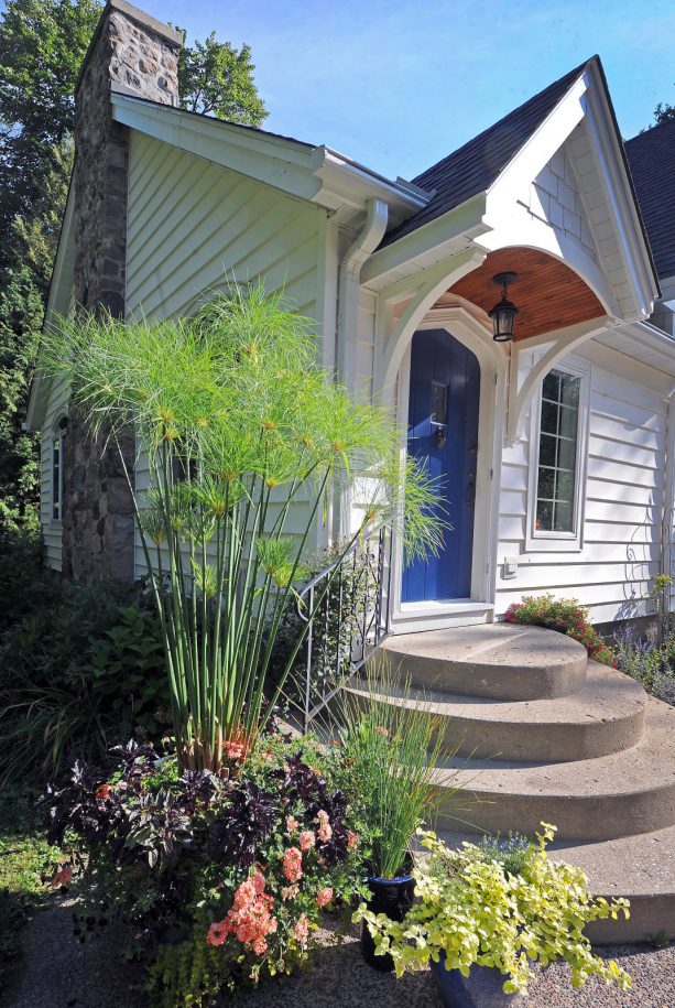
[[[307,622],[307,613],[314,613],[298,670],[305,731],[389,636],[391,556],[391,532],[379,529],[357,540],[298,594],[301,619]]]

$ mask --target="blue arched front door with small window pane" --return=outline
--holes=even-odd
[[[470,597],[479,397],[476,355],[445,329],[415,333],[407,451],[442,478],[453,529],[445,532],[438,556],[405,568],[404,603]]]

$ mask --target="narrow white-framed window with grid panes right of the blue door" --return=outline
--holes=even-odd
[[[584,370],[556,368],[533,403],[529,549],[580,549],[587,391]]]

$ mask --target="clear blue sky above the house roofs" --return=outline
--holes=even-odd
[[[248,42],[266,128],[412,177],[599,53],[625,138],[675,104],[672,0],[135,0]]]

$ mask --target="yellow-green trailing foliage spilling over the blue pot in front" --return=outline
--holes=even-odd
[[[367,921],[375,952],[393,957],[399,977],[445,957],[445,967],[464,976],[472,965],[494,967],[507,977],[505,994],[524,994],[532,962],[546,966],[563,958],[575,987],[599,976],[629,989],[625,971],[595,955],[584,934],[590,921],[616,920],[620,912],[628,918],[628,901],[594,898],[580,868],[549,860],[546,844],[555,826],[542,827],[518,872],[476,844],[450,850],[435,833],[420,831],[431,852],[413,871],[420,901],[401,923],[372,913],[364,903],[353,919]]]

